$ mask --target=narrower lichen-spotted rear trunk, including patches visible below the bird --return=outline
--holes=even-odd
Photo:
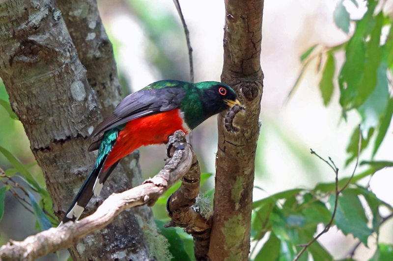
[[[62,18],[77,49],[78,57],[86,69],[87,81],[93,88],[101,113],[110,115],[121,101],[121,86],[117,77],[112,43],[102,24],[96,0],[57,0]],[[139,166],[139,154],[134,153],[120,162],[121,172],[128,177],[131,187],[141,184],[142,175]],[[148,206],[130,210],[136,218],[129,220],[130,226],[139,221],[140,227],[149,226],[156,231],[153,213]],[[141,241],[144,248],[147,242]],[[154,244],[155,242],[149,242]]]

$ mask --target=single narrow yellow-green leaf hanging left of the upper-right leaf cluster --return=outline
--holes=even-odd
[[[335,75],[335,58],[331,53],[328,53],[325,69],[322,73],[321,81],[319,82],[319,89],[321,90],[323,103],[327,106],[332,98],[334,84],[333,78]]]

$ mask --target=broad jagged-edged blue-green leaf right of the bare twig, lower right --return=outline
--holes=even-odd
[[[345,235],[353,234],[358,237],[361,242],[367,246],[367,238],[371,235],[371,229],[367,227],[365,221],[365,214],[359,214],[358,204],[361,205],[358,197],[348,196],[344,194],[338,197],[337,211],[335,222],[337,228],[340,229]],[[335,206],[335,195],[329,198],[331,205],[330,212],[333,214]],[[354,206],[355,205],[355,206]]]

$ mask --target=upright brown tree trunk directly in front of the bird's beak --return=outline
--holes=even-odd
[[[263,88],[260,67],[263,0],[225,0],[225,8],[221,80],[237,92],[246,113],[235,119],[234,123],[241,126],[239,133],[225,130],[225,113],[218,117],[209,258],[212,261],[246,261],[250,251],[254,162]]]

